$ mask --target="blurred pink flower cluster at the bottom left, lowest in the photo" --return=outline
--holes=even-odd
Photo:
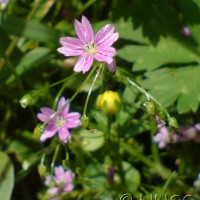
[[[48,194],[51,196],[59,195],[61,192],[71,192],[74,189],[74,173],[70,170],[65,171],[62,166],[55,167],[54,176],[47,176],[45,185],[49,187]]]

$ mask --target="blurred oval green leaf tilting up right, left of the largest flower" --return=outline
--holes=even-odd
[[[51,50],[48,48],[38,47],[36,49],[33,49],[32,51],[25,54],[24,57],[22,57],[15,69],[16,74],[18,76],[22,75],[23,73],[30,70],[32,67],[36,67],[42,62],[48,60],[51,57],[51,55]],[[14,79],[15,76],[11,75],[7,80],[7,84],[12,82]]]

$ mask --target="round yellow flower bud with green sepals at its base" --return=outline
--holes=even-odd
[[[97,99],[97,107],[107,115],[114,115],[121,109],[121,99],[117,92],[106,91]]]

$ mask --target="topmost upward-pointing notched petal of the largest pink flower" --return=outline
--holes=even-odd
[[[84,44],[94,40],[92,26],[86,17],[82,17],[82,23],[75,20],[74,27],[76,34]]]

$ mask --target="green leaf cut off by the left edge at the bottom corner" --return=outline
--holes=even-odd
[[[10,158],[0,151],[0,199],[10,200],[14,186],[14,167]]]

